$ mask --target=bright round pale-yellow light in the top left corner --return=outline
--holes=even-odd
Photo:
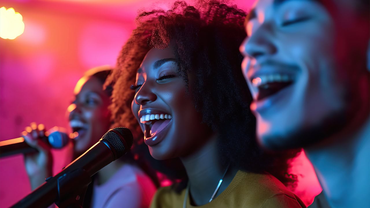
[[[0,37],[11,39],[20,36],[24,32],[23,17],[13,8],[0,8]]]

